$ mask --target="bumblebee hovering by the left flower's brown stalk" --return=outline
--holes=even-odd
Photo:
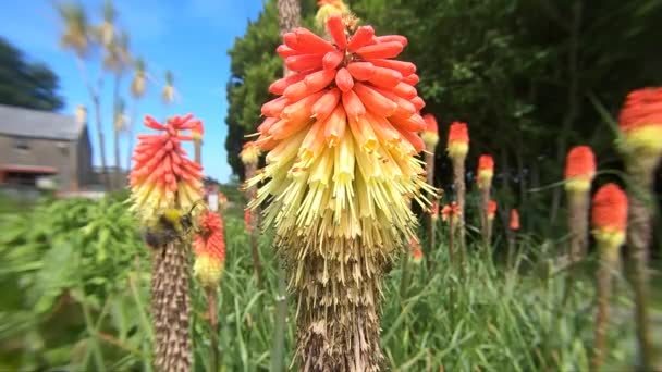
[[[163,249],[169,243],[184,240],[195,230],[193,211],[199,202],[195,202],[187,213],[171,208],[163,211],[151,226],[143,231],[143,239],[152,249]]]

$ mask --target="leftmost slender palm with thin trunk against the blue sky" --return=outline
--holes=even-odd
[[[87,91],[91,97],[95,108],[95,121],[97,124],[97,137],[99,141],[99,153],[101,159],[101,173],[103,174],[103,184],[108,189],[110,184],[106,172],[106,144],[103,141],[103,126],[101,125],[101,103],[99,92],[102,86],[102,79],[99,78],[96,86],[94,86],[87,71],[85,70],[85,59],[89,54],[90,50],[96,47],[93,38],[90,38],[91,28],[88,23],[87,14],[81,4],[78,3],[62,3],[58,4],[58,13],[62,22],[64,23],[64,30],[60,35],[60,45],[74,52],[76,63],[81,72],[81,76]]]

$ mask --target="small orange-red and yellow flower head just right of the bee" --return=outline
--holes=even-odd
[[[200,232],[194,237],[195,263],[193,273],[205,287],[216,287],[225,262],[225,236],[223,221],[218,213],[204,212],[198,224]]]

